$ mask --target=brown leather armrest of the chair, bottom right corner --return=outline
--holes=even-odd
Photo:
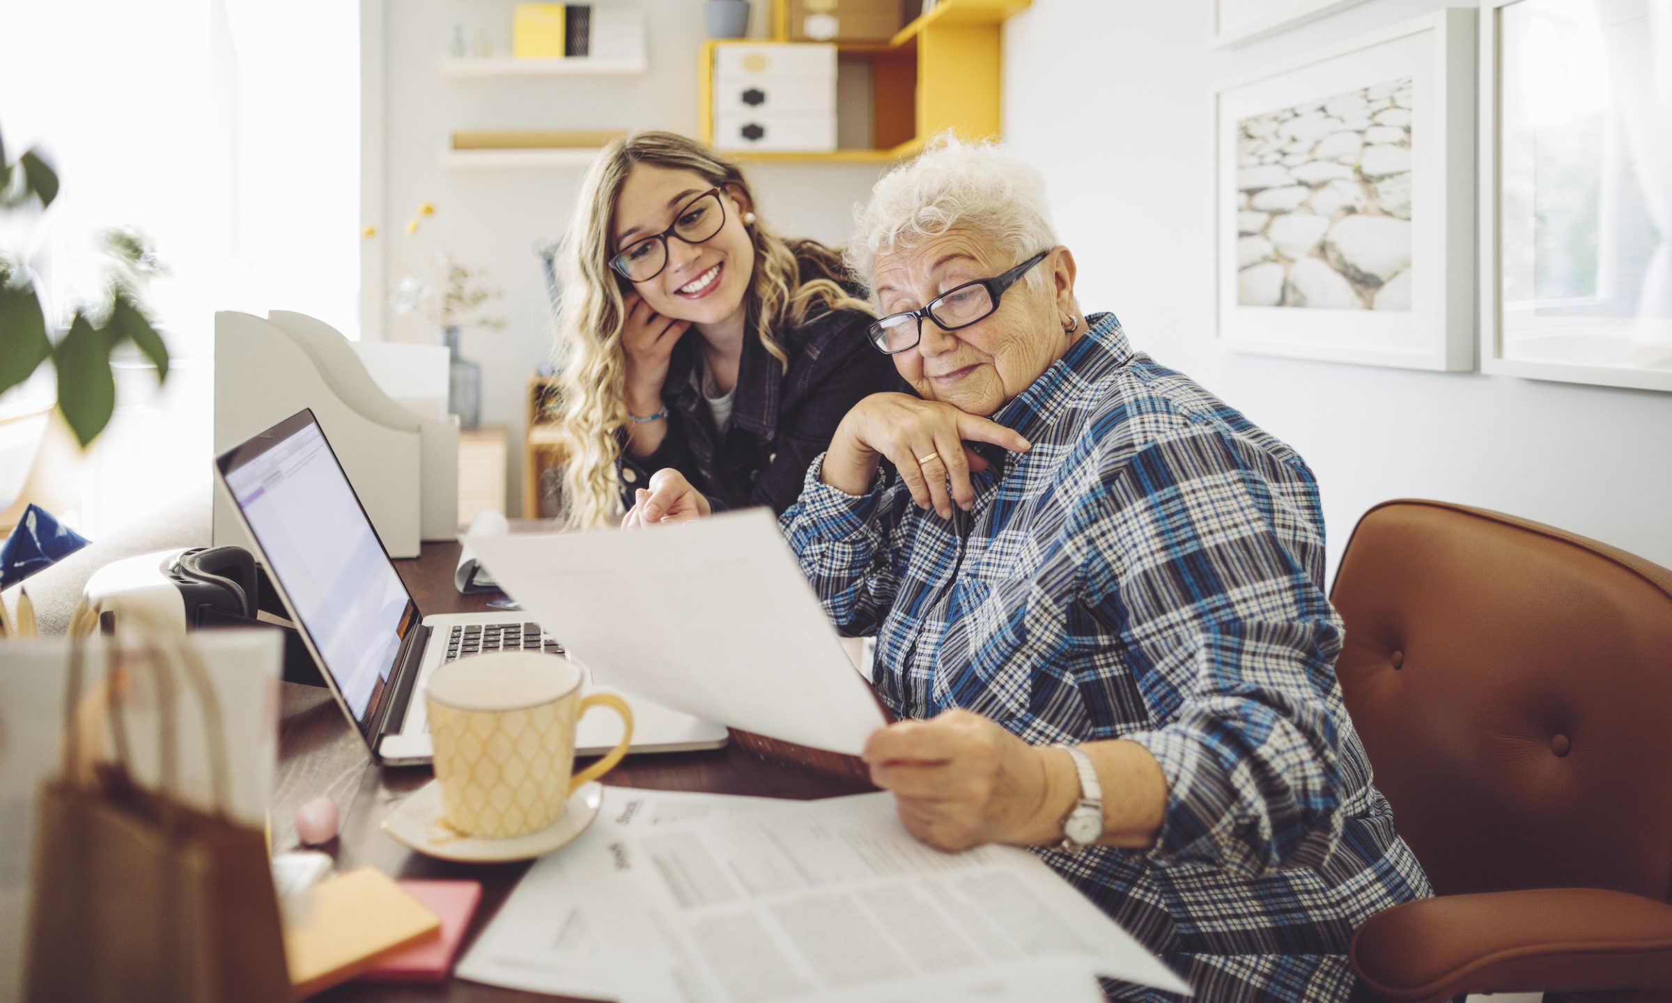
[[[1353,971],[1384,1000],[1672,988],[1672,906],[1600,888],[1451,894],[1376,913]]]

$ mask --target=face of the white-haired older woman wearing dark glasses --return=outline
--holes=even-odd
[[[1017,264],[1020,261],[997,257],[985,242],[953,229],[878,257],[871,286],[886,316],[918,309],[953,286],[990,279]],[[943,331],[925,318],[916,348],[891,356],[906,383],[925,400],[986,416],[1038,379],[1072,343],[1063,333],[1063,309],[1057,299],[1067,293],[1072,304],[1073,261],[1067,249],[1057,247],[1033,271],[1048,281],[1037,288],[1018,281],[997,311],[968,328]]]

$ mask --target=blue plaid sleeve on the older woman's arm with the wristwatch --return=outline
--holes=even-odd
[[[1104,502],[1087,602],[1164,722],[1122,736],[1167,777],[1149,859],[1246,876],[1319,864],[1343,824],[1341,622],[1319,587],[1311,473],[1195,430],[1132,456]]]

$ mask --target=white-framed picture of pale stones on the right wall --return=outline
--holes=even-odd
[[[1473,369],[1475,25],[1441,10],[1219,89],[1226,346]]]

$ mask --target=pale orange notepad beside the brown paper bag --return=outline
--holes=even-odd
[[[308,889],[301,916],[284,928],[291,998],[348,981],[440,931],[441,918],[376,868],[326,878]]]

